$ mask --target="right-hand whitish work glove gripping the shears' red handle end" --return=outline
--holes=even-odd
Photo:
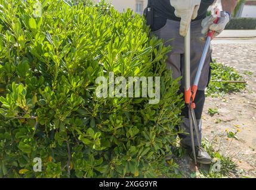
[[[214,24],[214,20],[216,18],[211,15],[206,17],[202,21],[202,34],[207,34],[209,30],[215,31],[214,37],[218,36],[226,27],[227,23],[229,23],[230,17],[229,13],[225,11],[220,12],[220,18],[217,24]]]

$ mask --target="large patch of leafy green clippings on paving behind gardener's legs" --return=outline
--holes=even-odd
[[[206,88],[206,96],[220,97],[227,93],[244,90],[245,83],[228,83],[219,81],[243,81],[243,77],[230,66],[217,63],[215,60],[211,63],[212,77],[211,82]]]

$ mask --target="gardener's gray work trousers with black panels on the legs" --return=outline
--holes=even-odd
[[[191,47],[190,47],[191,85],[195,80],[196,72],[198,71],[199,62],[202,56],[202,52],[203,52],[203,48],[205,46],[205,40],[206,40],[206,37],[201,33],[201,30],[202,30],[201,23],[202,23],[202,20],[193,21],[191,23]],[[153,31],[153,33],[159,38],[163,39],[166,46],[168,45],[172,46],[172,51],[169,53],[168,59],[166,61],[167,68],[172,69],[172,77],[175,79],[180,76],[183,76],[184,37],[180,36],[180,22],[167,20],[164,27],[162,27],[159,30]],[[203,104],[205,101],[204,90],[206,88],[206,85],[209,82],[211,53],[212,53],[212,49],[210,47],[208,50],[208,54],[206,56],[205,65],[203,66],[202,75],[198,84],[198,90],[199,90],[198,94],[201,94],[199,96],[202,96],[202,97],[198,97],[198,98],[196,97],[196,99],[198,99],[198,103],[195,102],[196,103],[195,112],[196,112],[196,119],[198,122],[199,133],[200,133],[200,140],[202,138],[201,115],[202,115]],[[183,85],[182,79],[180,81],[180,84],[181,84],[181,91],[183,91],[184,85]],[[184,113],[183,116],[184,118],[180,128],[185,133],[180,134],[181,143],[191,146],[191,137],[190,135],[186,135],[186,134],[190,134],[189,119],[186,113]],[[196,140],[195,132],[194,132],[194,139],[195,139],[195,144],[197,145],[198,143]]]

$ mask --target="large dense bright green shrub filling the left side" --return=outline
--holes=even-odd
[[[170,47],[140,15],[44,0],[38,17],[36,1],[0,2],[0,177],[175,176],[165,157],[183,101]],[[160,102],[98,98],[95,80],[110,72],[161,77]]]

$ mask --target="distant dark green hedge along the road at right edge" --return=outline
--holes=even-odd
[[[256,18],[232,18],[226,30],[255,30]]]

